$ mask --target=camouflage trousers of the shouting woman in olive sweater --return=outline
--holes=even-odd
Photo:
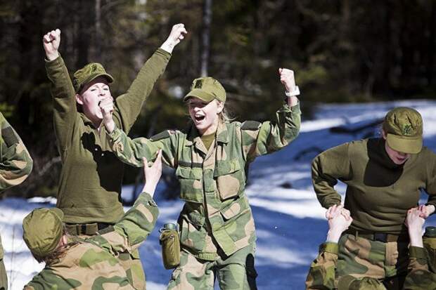
[[[92,237],[91,235],[78,235],[81,239]],[[130,284],[137,290],[146,290],[146,273],[142,268],[141,258],[139,257],[139,250],[136,249],[132,253],[121,253],[118,256],[118,261],[122,268],[127,273]],[[1,290],[1,289],[0,289]]]

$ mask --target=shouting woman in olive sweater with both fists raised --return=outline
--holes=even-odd
[[[108,86],[113,77],[102,65],[86,65],[75,72],[71,81],[58,53],[60,30],[44,36],[54,128],[62,160],[56,206],[63,211],[70,234],[90,237],[122,217],[120,193],[124,164],[115,157],[104,129],[101,130],[100,107],[111,106],[118,128],[129,132],[184,33],[184,25],[174,25],[167,41],[143,65],[127,93],[115,101]],[[131,272],[134,286],[145,289],[139,252],[126,253],[119,258]]]

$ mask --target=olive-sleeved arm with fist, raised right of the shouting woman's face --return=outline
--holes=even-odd
[[[132,128],[155,82],[165,71],[173,48],[180,43],[181,39],[184,39],[186,33],[183,24],[174,25],[167,40],[146,61],[127,93],[120,95],[115,100],[116,106],[113,117],[115,124],[122,131],[128,133]]]

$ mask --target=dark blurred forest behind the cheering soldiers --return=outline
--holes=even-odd
[[[222,82],[236,120],[274,114],[284,96],[278,67],[295,71],[304,119],[317,103],[436,98],[432,0],[2,0],[0,111],[34,159],[30,178],[8,196],[56,195],[60,158],[42,36],[60,28],[70,73],[101,62],[116,96],[179,22],[188,35],[132,137],[184,128],[181,98],[204,75]],[[129,168],[124,183],[139,176]]]

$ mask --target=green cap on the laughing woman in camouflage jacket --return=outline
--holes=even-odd
[[[194,79],[191,85],[191,91],[185,95],[184,101],[188,98],[195,97],[210,103],[212,100],[217,99],[226,103],[226,90],[219,84],[219,81],[213,77],[199,77]]]

